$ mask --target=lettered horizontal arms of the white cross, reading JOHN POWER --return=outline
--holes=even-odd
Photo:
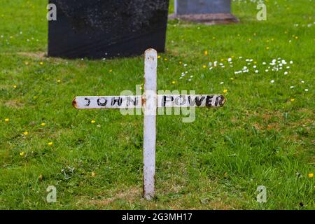
[[[141,98],[141,96],[76,97],[73,99],[73,106],[76,109],[141,108],[143,106]],[[221,107],[225,103],[222,95],[207,94],[159,94],[157,99],[157,107]],[[152,111],[154,114],[154,108]]]

